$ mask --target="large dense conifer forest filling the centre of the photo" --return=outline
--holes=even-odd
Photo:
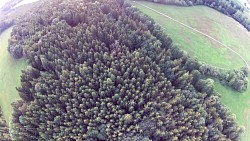
[[[13,140],[234,140],[243,128],[190,58],[124,0],[45,0],[10,47],[29,67]]]

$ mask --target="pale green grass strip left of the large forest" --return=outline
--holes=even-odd
[[[12,113],[11,103],[20,99],[16,87],[20,86],[21,70],[27,66],[25,59],[15,60],[7,51],[11,30],[0,35],[0,106],[7,121]]]

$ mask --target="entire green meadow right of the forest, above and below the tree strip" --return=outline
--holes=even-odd
[[[250,64],[250,35],[234,19],[205,6],[178,7],[144,1],[138,2],[216,38],[237,51]],[[187,51],[192,57],[196,56],[199,61],[225,69],[238,69],[245,65],[235,53],[207,37],[139,4],[131,3],[153,18],[163,27],[166,34],[180,45],[181,49]],[[250,88],[248,87],[246,92],[238,93],[216,82],[215,89],[221,94],[222,103],[236,115],[237,122],[245,126],[246,130],[242,141],[249,141]]]

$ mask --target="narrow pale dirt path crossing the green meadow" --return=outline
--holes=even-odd
[[[236,55],[238,55],[238,56],[244,61],[244,63],[246,64],[248,70],[250,71],[250,66],[248,65],[247,61],[246,61],[238,52],[236,52],[235,50],[233,50],[233,49],[230,48],[229,46],[223,44],[222,42],[220,42],[219,40],[215,39],[214,37],[212,37],[212,36],[210,36],[210,35],[208,35],[208,34],[206,34],[206,33],[204,33],[204,32],[201,32],[201,31],[199,31],[199,30],[197,30],[197,29],[195,29],[195,28],[193,28],[193,27],[191,27],[191,26],[189,26],[189,25],[186,25],[186,24],[184,24],[184,23],[182,23],[182,22],[180,22],[180,21],[178,21],[178,20],[176,20],[176,19],[174,19],[174,18],[172,18],[172,17],[170,17],[170,16],[168,16],[168,15],[162,13],[162,12],[159,12],[159,11],[157,11],[157,10],[151,8],[151,7],[148,7],[148,6],[146,6],[146,5],[144,5],[144,4],[141,4],[141,3],[137,2],[137,1],[133,1],[133,2],[134,2],[134,3],[137,3],[137,4],[141,5],[141,6],[143,6],[143,7],[145,7],[145,8],[147,8],[147,9],[149,9],[149,10],[152,10],[152,11],[154,11],[154,12],[156,12],[156,13],[158,13],[158,14],[160,14],[160,15],[162,15],[162,16],[164,16],[164,17],[166,17],[166,18],[168,18],[168,19],[170,19],[170,20],[172,20],[172,21],[174,21],[174,22],[176,22],[176,23],[178,23],[178,24],[180,24],[180,25],[186,27],[186,28],[189,28],[189,29],[191,29],[191,30],[193,30],[193,31],[195,31],[195,32],[197,32],[197,33],[199,33],[199,34],[201,34],[201,35],[203,35],[203,36],[205,36],[205,37],[207,37],[207,38],[209,38],[209,39],[211,39],[211,40],[217,42],[218,44],[222,45],[223,47],[229,49],[231,52],[233,52],[233,53],[235,53]]]

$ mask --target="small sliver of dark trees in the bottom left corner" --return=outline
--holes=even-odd
[[[9,134],[9,128],[6,124],[6,121],[3,117],[2,109],[0,107],[0,137],[1,141],[11,141],[10,134]]]

